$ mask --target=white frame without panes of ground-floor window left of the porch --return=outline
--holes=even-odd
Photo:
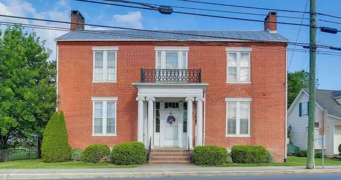
[[[117,136],[117,97],[91,97],[93,101],[93,130],[92,136]],[[95,133],[95,103],[102,103],[102,133]],[[114,133],[107,133],[107,103],[114,102],[115,103],[115,131]]]

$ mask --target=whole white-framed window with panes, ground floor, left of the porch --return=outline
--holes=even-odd
[[[116,135],[117,97],[92,97],[93,136]]]

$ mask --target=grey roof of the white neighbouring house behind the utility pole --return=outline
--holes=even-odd
[[[309,89],[304,89],[309,94]],[[333,99],[337,90],[316,90],[315,100],[323,109],[328,109],[328,114],[341,117],[341,105]]]

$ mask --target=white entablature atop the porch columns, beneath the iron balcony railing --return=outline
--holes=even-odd
[[[203,97],[208,83],[132,83],[138,96]]]

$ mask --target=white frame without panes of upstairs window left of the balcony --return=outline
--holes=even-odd
[[[118,47],[93,47],[93,83],[116,83],[117,82],[117,51]],[[95,80],[95,52],[103,53],[103,78],[102,80]],[[108,53],[115,53],[115,78],[108,80]]]

